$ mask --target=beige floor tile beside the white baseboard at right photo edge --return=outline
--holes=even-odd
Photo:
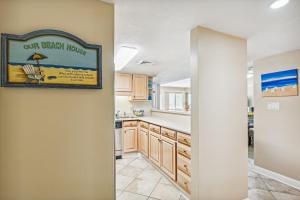
[[[288,185],[285,185],[273,179],[262,179],[262,180],[265,182],[269,190],[273,192],[282,192],[282,193],[288,193],[288,194],[300,196],[300,191],[293,187],[290,187]]]

